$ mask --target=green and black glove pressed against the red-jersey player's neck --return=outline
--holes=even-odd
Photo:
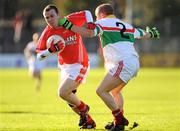
[[[71,28],[73,27],[73,24],[67,18],[59,19],[58,25],[63,26],[64,28],[68,30],[71,30]]]

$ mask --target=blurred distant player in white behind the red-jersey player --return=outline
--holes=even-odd
[[[36,80],[36,90],[39,91],[42,81],[43,63],[36,60],[36,45],[39,39],[38,33],[34,33],[32,41],[30,41],[24,49],[24,56],[28,63],[29,74]]]

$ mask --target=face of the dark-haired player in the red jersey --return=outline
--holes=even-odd
[[[58,26],[58,14],[54,9],[51,9],[49,11],[44,12],[44,19],[46,20],[46,23],[53,27],[56,28]]]

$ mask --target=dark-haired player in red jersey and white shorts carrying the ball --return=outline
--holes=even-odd
[[[88,113],[89,106],[75,94],[77,87],[85,80],[89,71],[88,54],[82,38],[79,34],[58,26],[58,19],[61,16],[56,6],[46,6],[43,16],[47,26],[40,36],[36,48],[38,52],[37,59],[42,60],[53,53],[58,54],[58,62],[61,70],[61,83],[59,84],[58,95],[80,115],[79,126],[81,128],[95,128],[96,124]],[[93,21],[89,11],[72,13],[66,16],[66,18],[77,26],[83,26]],[[65,47],[61,48],[62,41],[57,41],[56,43],[51,43],[50,48],[48,48],[46,44],[47,40],[53,35],[62,37]]]

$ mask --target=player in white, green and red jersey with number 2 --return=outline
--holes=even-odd
[[[134,28],[117,19],[109,4],[98,6],[95,14],[97,21],[88,25],[88,29],[92,30],[72,25],[67,19],[60,19],[59,24],[68,23],[72,26],[72,31],[86,37],[100,37],[107,74],[96,92],[114,116],[114,121],[105,128],[120,131],[128,125],[128,120],[123,115],[121,90],[139,70],[139,57],[133,45],[134,41],[142,38],[159,38],[159,32],[156,28],[147,28],[146,31]]]

